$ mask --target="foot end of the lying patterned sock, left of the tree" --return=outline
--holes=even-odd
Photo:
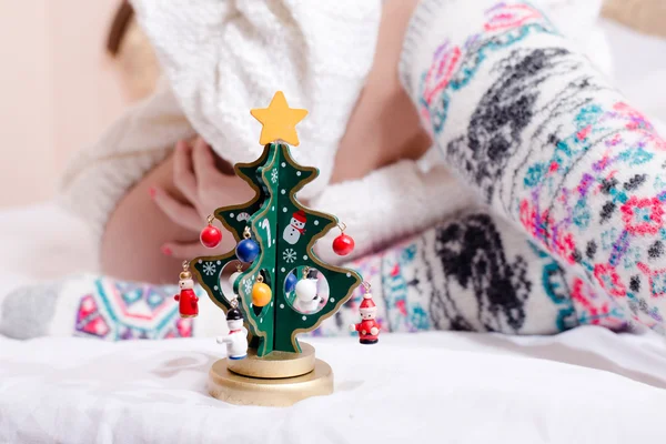
[[[16,339],[87,336],[105,341],[213,336],[223,316],[201,287],[202,315],[181,319],[173,295],[178,285],[150,285],[105,276],[70,276],[18,289],[0,307],[0,334]],[[203,296],[203,297],[201,297]]]

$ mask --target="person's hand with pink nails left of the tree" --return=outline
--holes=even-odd
[[[221,169],[229,170],[230,174],[224,174]],[[244,202],[252,196],[250,186],[233,175],[230,165],[216,165],[215,155],[202,138],[196,138],[191,144],[185,141],[176,143],[173,183],[185,202],[158,186],[150,189],[151,196],[171,221],[195,233],[205,226],[206,216],[215,209]],[[218,249],[228,251],[233,246],[233,238],[222,230],[222,243]],[[192,259],[210,254],[210,250],[199,242],[168,242],[162,246],[162,253],[178,259]]]

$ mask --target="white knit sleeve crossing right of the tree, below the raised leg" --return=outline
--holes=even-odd
[[[356,244],[353,254],[345,258],[349,260],[380,251],[473,208],[477,201],[444,167],[423,171],[416,162],[403,160],[361,180],[329,185],[312,205],[347,225],[345,233]],[[331,230],[316,243],[322,260],[341,261],[331,248],[339,234],[339,230]]]

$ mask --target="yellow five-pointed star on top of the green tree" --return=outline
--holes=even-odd
[[[296,133],[296,123],[305,119],[307,110],[289,108],[284,93],[278,91],[271,100],[269,108],[258,108],[250,113],[262,124],[259,143],[266,143],[282,140],[292,147],[299,145],[299,134]]]

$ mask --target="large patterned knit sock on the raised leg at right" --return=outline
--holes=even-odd
[[[664,332],[666,142],[539,10],[423,0],[401,79],[446,162],[497,214]]]

